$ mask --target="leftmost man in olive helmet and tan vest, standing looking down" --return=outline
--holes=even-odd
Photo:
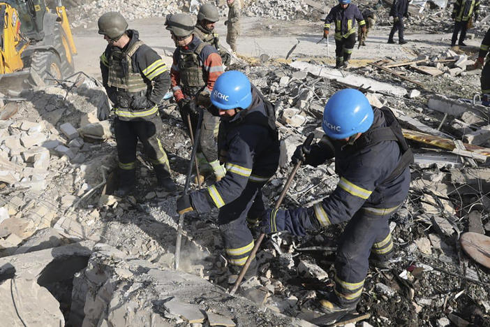
[[[117,116],[114,119],[119,159],[116,194],[126,196],[135,187],[138,139],[153,164],[158,186],[175,191],[167,154],[158,139],[163,131],[158,103],[170,87],[167,66],[153,49],[140,41],[138,31],[128,29],[120,13],[103,14],[98,19],[98,34],[103,34],[108,43],[101,55],[101,73]]]

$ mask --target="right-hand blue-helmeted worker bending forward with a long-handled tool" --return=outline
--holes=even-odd
[[[413,154],[389,108],[371,108],[356,89],[329,99],[322,128],[325,136],[311,147],[297,147],[292,161],[318,166],[335,157],[336,189],[311,208],[267,210],[260,230],[306,235],[348,221],[337,248],[334,292],[319,301],[326,314],[322,323],[332,324],[355,310],[370,255],[379,265],[393,255],[388,219],[408,194]]]

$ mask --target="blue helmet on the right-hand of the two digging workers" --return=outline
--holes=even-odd
[[[329,138],[338,140],[364,133],[373,124],[373,108],[357,89],[341,89],[327,101],[322,128]]]

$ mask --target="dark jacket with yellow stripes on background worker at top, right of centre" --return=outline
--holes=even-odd
[[[329,30],[330,24],[333,22],[335,24],[335,39],[341,40],[341,38],[348,38],[350,34],[355,33],[356,20],[359,26],[366,24],[359,8],[354,3],[349,3],[346,9],[343,9],[339,4],[330,9],[327,17],[325,17],[324,29]]]

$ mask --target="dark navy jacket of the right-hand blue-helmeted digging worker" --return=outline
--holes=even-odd
[[[368,132],[384,126],[387,124],[383,112],[374,108],[374,121]],[[360,209],[373,215],[387,215],[403,203],[408,194],[410,168],[386,181],[401,158],[396,141],[382,141],[361,150],[357,150],[355,143],[343,147],[338,142],[333,145],[335,170],[340,177],[333,193],[313,208],[281,212],[281,215],[290,216],[285,217],[289,221],[287,229],[295,235],[304,235],[307,229],[348,221]]]

